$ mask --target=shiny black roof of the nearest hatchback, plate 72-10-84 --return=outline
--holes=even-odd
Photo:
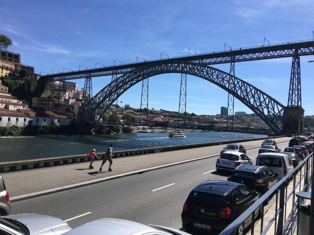
[[[226,196],[239,185],[241,184],[224,180],[208,180],[196,186],[193,191],[208,192]]]

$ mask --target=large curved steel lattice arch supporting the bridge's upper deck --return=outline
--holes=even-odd
[[[184,73],[203,78],[232,94],[257,114],[275,132],[281,132],[284,105],[252,86],[222,70],[189,61],[158,61],[134,68],[117,77],[99,91],[84,106],[82,122],[100,123],[100,118],[116,99],[136,83],[159,74]]]

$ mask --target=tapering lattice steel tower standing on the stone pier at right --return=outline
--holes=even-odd
[[[300,56],[292,57],[288,107],[302,107]]]

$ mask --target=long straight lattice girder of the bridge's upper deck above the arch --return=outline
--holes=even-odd
[[[148,65],[151,63],[158,63],[164,61],[190,61],[192,63],[204,64],[204,65],[215,65],[224,64],[231,62],[251,61],[251,60],[265,60],[273,58],[292,57],[297,55],[313,55],[314,54],[314,43],[313,41],[293,42],[287,44],[277,44],[270,46],[259,46],[252,48],[239,48],[232,49],[230,51],[216,51],[210,53],[203,53],[198,55],[173,57],[170,59],[162,60],[147,60],[141,63],[130,63],[123,65],[104,66],[101,68],[65,72],[58,74],[49,74],[41,76],[43,81],[59,81],[59,80],[70,80],[79,79],[85,77],[100,77],[108,76],[112,74],[124,74],[128,73],[138,67]]]

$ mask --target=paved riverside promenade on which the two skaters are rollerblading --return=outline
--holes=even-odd
[[[277,142],[289,141],[290,137],[276,138]],[[246,149],[261,146],[261,140],[243,142]],[[98,172],[101,161],[94,161],[94,170],[89,170],[89,162],[75,163],[47,168],[21,170],[2,173],[10,198],[38,191],[44,191],[66,185],[78,184],[89,180],[101,179],[108,176],[125,174],[136,170],[176,163],[199,157],[219,154],[223,145],[203,148],[176,150],[171,152],[145,154],[129,157],[114,158],[112,172],[107,172],[109,163]]]

